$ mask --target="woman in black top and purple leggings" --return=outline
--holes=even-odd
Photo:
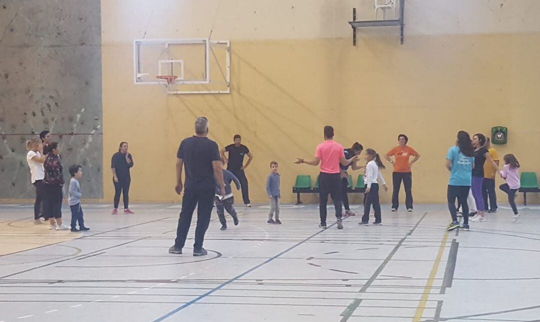
[[[485,222],[485,204],[484,197],[482,196],[482,187],[484,184],[484,163],[486,160],[493,163],[495,168],[498,168],[497,163],[491,158],[488,149],[484,147],[485,145],[485,136],[483,134],[477,133],[473,136],[473,147],[474,151],[474,168],[473,168],[473,182],[471,186],[471,191],[473,191],[473,197],[476,204],[476,209],[478,213],[474,216],[471,221],[474,222]]]

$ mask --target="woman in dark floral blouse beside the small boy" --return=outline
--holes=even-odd
[[[60,148],[57,142],[51,142],[47,146],[47,157],[43,165],[45,169],[45,200],[43,201],[43,213],[45,218],[49,218],[53,230],[69,230],[70,228],[62,224],[62,187],[64,186],[64,176],[62,175],[62,163],[60,162]]]

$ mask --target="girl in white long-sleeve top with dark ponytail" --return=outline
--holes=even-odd
[[[375,221],[374,225],[382,225],[381,221],[381,204],[379,203],[379,182],[380,180],[383,186],[384,191],[387,191],[386,182],[379,172],[379,169],[384,169],[381,158],[379,154],[375,152],[374,149],[366,150],[366,175],[364,176],[364,182],[366,183],[366,201],[364,204],[364,215],[362,216],[362,221],[360,225],[369,225],[369,210],[373,205],[373,210],[375,211]]]

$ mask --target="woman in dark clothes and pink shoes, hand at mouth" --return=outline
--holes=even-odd
[[[120,194],[124,195],[124,214],[133,214],[129,208],[130,202],[130,168],[133,167],[133,157],[127,152],[127,142],[120,142],[118,152],[114,153],[111,160],[112,181],[114,184],[114,209],[112,214],[118,214]]]

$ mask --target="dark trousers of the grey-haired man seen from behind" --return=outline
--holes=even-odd
[[[174,246],[183,248],[186,244],[187,233],[190,231],[193,211],[197,207],[197,227],[195,228],[195,243],[193,249],[203,248],[204,235],[210,224],[210,215],[214,208],[215,187],[208,189],[186,189],[182,198],[182,210],[178,218],[176,240]]]

